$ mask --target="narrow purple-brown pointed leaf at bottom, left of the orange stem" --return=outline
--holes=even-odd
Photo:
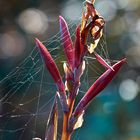
[[[55,98],[51,114],[47,123],[47,130],[45,134],[45,140],[57,140],[57,125],[58,125],[58,105]]]

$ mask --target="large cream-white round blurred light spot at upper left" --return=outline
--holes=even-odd
[[[43,34],[48,28],[47,16],[40,10],[30,8],[23,11],[18,23],[27,33]]]

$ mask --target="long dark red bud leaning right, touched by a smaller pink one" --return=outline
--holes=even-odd
[[[79,104],[77,105],[74,116],[79,116],[82,111],[88,106],[88,104],[94,99],[96,95],[98,95],[113,79],[113,77],[117,74],[117,72],[120,70],[122,65],[125,63],[126,59],[120,60],[118,63],[114,64],[111,69],[108,69],[106,72],[104,72],[89,88],[89,90],[86,92],[84,97],[80,100]]]

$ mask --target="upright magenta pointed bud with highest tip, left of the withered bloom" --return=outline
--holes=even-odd
[[[73,48],[69,30],[68,30],[68,25],[62,16],[59,16],[59,23],[60,23],[60,32],[61,32],[64,52],[67,57],[69,66],[73,69],[74,48]]]

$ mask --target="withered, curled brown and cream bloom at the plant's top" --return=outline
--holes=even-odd
[[[81,40],[84,45],[88,46],[89,53],[93,53],[97,47],[105,24],[104,19],[94,8],[94,2],[94,0],[86,1],[86,10],[82,14],[81,23]],[[92,38],[92,41],[88,42],[88,38]]]

